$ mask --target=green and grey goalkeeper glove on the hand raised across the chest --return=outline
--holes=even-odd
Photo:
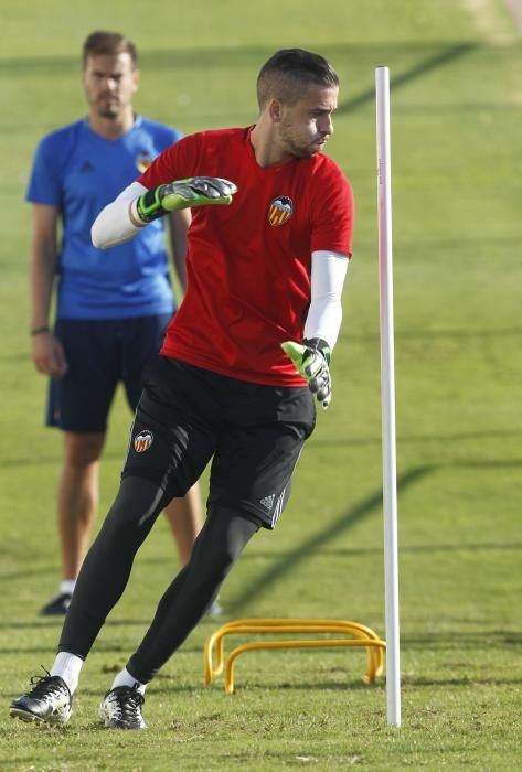
[[[169,182],[142,193],[136,210],[143,223],[151,223],[168,212],[205,204],[230,204],[237,193],[237,185],[219,176],[190,176]]]

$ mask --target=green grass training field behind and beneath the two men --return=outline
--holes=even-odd
[[[522,709],[522,47],[502,0],[308,0],[258,6],[20,0],[0,49],[0,769],[520,769]],[[29,354],[32,152],[85,111],[79,49],[118,29],[141,51],[137,107],[183,131],[255,120],[254,82],[277,47],[317,50],[342,79],[328,152],[354,186],[358,224],[319,416],[274,534],[225,585],[223,621],[355,620],[384,631],[374,68],[392,77],[403,725],[360,651],[255,652],[237,693],[203,685],[205,619],[148,690],[148,732],[102,730],[96,708],[177,570],[159,522],[84,668],[61,731],[8,716],[49,667],[60,436]],[[129,414],[118,396],[99,521],[115,493]],[[203,486],[205,481],[203,481]],[[244,639],[243,639],[244,640]],[[228,644],[230,648],[230,644]]]

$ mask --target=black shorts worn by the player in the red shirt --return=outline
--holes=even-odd
[[[274,528],[315,423],[306,387],[251,384],[158,356],[143,373],[122,476],[182,496],[212,458],[209,507],[227,505]]]

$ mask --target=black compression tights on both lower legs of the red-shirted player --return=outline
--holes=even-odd
[[[85,658],[105,619],[121,597],[136,553],[166,505],[151,482],[125,478],[79,572],[60,650]],[[213,506],[192,551],[163,594],[128,668],[142,683],[183,643],[216,597],[243,548],[258,530],[247,516]]]

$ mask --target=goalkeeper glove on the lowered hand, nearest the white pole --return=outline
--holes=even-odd
[[[305,339],[301,343],[286,341],[281,343],[299,375],[308,380],[308,387],[326,409],[332,398],[332,379],[330,377],[330,347],[320,337]]]

